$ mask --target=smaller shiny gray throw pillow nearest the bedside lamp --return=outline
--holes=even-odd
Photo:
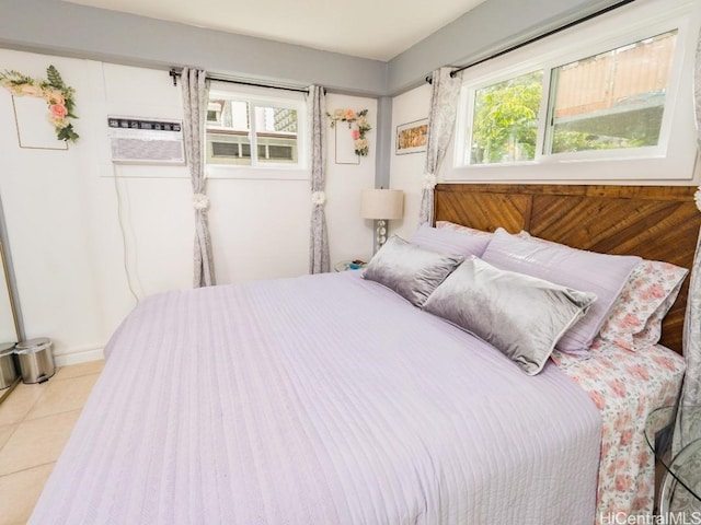
[[[414,306],[421,306],[463,260],[461,255],[421,248],[392,235],[370,259],[363,277],[393,290]]]

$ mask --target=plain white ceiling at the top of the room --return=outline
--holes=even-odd
[[[390,60],[485,0],[64,0]]]

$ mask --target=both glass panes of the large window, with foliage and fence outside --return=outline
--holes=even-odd
[[[475,86],[464,159],[472,165],[518,163],[539,154],[656,147],[677,34]],[[547,118],[539,121],[544,104]]]

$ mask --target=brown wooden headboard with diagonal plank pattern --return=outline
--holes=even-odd
[[[439,184],[435,217],[479,230],[502,226],[575,248],[637,255],[691,269],[701,226],[696,186]],[[681,353],[687,277],[663,324],[662,343]]]

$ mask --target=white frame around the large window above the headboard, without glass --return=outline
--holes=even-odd
[[[690,180],[693,178],[696,138],[691,89],[701,9],[693,0],[639,0],[562,34],[509,52],[464,71],[452,159],[446,159],[443,179],[455,182],[563,182]],[[671,5],[670,5],[671,3]],[[624,27],[624,31],[621,31]],[[550,70],[631,42],[678,28],[678,52],[670,72],[659,145],[607,152],[542,155],[544,126],[539,127],[536,159],[528,162],[466,165],[463,150],[468,122],[468,96],[475,89],[544,69],[543,101],[548,101]],[[547,118],[541,105],[540,121]],[[671,109],[671,110],[670,110]],[[616,159],[606,159],[614,156]],[[566,173],[566,175],[563,175]]]

